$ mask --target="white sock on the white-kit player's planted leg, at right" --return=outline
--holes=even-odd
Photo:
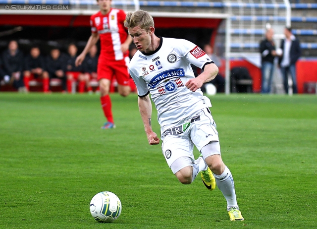
[[[222,192],[227,201],[227,210],[230,210],[232,207],[238,207],[236,193],[234,190],[234,182],[228,167],[224,169],[224,172],[221,175],[213,175],[216,178],[219,190]]]

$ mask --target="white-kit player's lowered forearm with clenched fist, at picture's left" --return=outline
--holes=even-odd
[[[145,97],[138,98],[139,111],[141,114],[141,118],[144,124],[144,130],[147,134],[148,141],[150,145],[158,145],[159,138],[158,135],[153,132],[151,126],[151,115],[152,115],[152,104],[150,100],[150,96],[147,95]]]

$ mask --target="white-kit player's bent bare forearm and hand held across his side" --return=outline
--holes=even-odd
[[[214,79],[218,74],[218,67],[214,63],[207,64],[204,68],[202,74],[197,76],[196,78],[189,79],[185,86],[195,92],[197,89],[201,88],[204,83],[207,83]]]

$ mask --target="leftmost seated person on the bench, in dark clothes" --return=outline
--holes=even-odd
[[[3,79],[13,85],[18,91],[25,92],[22,78],[23,53],[18,49],[16,41],[10,41],[8,49],[2,53]],[[3,74],[2,73],[2,74]]]

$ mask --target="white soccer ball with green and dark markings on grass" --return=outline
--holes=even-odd
[[[90,201],[90,213],[98,222],[113,222],[121,214],[121,201],[112,192],[97,193]]]

